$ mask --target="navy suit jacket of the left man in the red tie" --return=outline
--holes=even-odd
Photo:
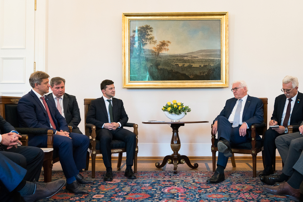
[[[36,94],[31,90],[25,96],[21,97],[18,102],[17,110],[19,116],[19,125],[21,128],[48,128],[53,130],[54,134],[58,130],[68,130],[67,123],[64,117],[59,113],[53,101],[45,96],[46,104],[48,105],[49,112],[56,125],[56,129],[50,127],[48,114],[44,109]],[[44,136],[47,141],[47,136]]]

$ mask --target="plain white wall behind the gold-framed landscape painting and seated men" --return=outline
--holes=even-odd
[[[162,106],[172,100],[192,109],[182,120],[207,120],[179,129],[180,154],[211,156],[210,125],[233,97],[231,83],[243,79],[249,95],[268,97],[268,116],[274,98],[282,92],[285,75],[303,82],[303,26],[301,0],[51,0],[48,1],[47,72],[66,79],[66,92],[76,95],[84,132],[84,98],[101,97],[100,83],[115,82],[129,121],[139,124],[139,156],[172,153],[168,125],[142,121],[168,120]],[[229,88],[125,89],[122,88],[122,13],[229,12]],[[300,91],[299,86],[299,91]],[[278,152],[277,152],[278,153]]]

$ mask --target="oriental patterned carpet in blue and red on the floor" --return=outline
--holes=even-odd
[[[65,190],[40,201],[140,201],[140,202],[272,202],[291,201],[286,197],[268,194],[259,189],[263,183],[252,177],[252,171],[226,171],[225,181],[208,184],[211,171],[141,171],[136,180],[128,180],[124,172],[116,171],[112,182],[104,182],[105,171],[96,171],[94,183],[87,185],[89,194],[75,195]],[[91,171],[83,171],[91,177]],[[43,180],[41,175],[40,180]],[[65,179],[62,171],[53,171],[53,180]]]

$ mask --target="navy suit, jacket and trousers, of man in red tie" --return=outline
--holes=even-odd
[[[59,113],[53,101],[45,97],[56,129],[68,130],[64,117]],[[31,90],[18,102],[18,115],[20,127],[48,128],[54,132],[53,148],[58,151],[62,170],[66,178],[75,176],[79,169],[85,168],[86,152],[89,146],[89,138],[82,134],[71,132],[69,137],[55,135],[56,129],[50,127],[48,114],[36,94]],[[29,134],[29,146],[47,147],[47,134]]]

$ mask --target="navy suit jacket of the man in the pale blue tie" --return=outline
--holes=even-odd
[[[221,113],[215,118],[213,123],[218,120],[219,116],[225,116],[227,119],[229,118],[230,114],[234,106],[236,105],[237,99],[231,98],[226,101],[225,106]],[[251,97],[248,95],[243,115],[242,115],[242,122],[247,123],[248,128],[251,127],[252,124],[258,123],[261,124],[264,121],[263,116],[263,102],[257,97]],[[249,137],[251,135],[251,130],[248,130]]]

